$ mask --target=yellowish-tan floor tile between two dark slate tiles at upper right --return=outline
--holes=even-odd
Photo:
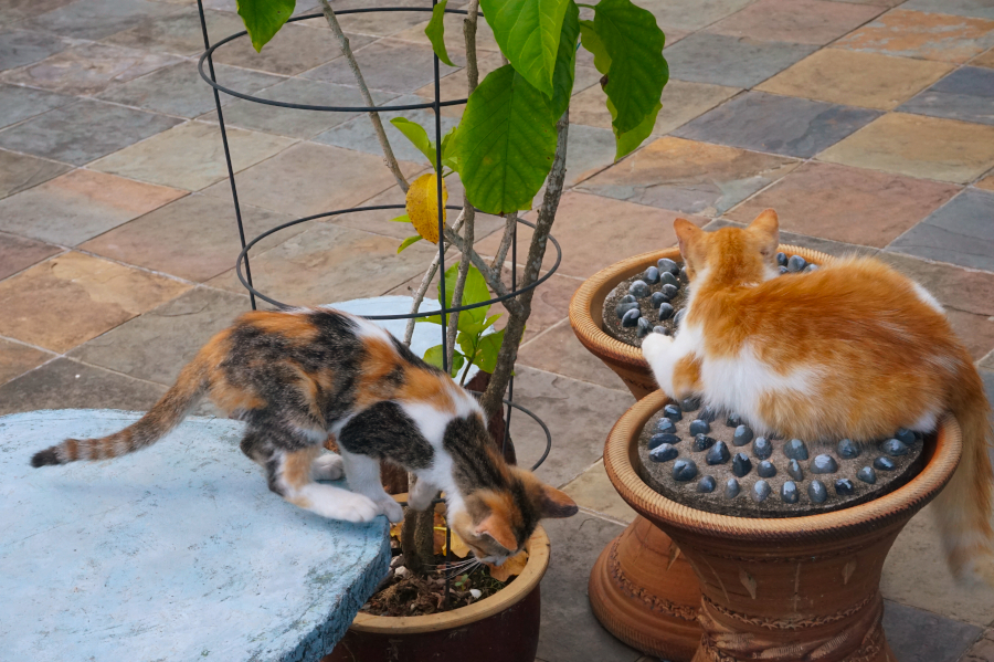
[[[890,111],[952,71],[942,62],[824,49],[757,90]],[[859,72],[854,75],[854,72]]]

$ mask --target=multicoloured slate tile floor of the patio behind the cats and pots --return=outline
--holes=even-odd
[[[297,13],[315,4],[303,0]],[[340,9],[426,0],[335,0]],[[635,662],[591,616],[586,577],[632,511],[604,475],[612,422],[632,403],[567,321],[584,277],[709,228],[781,214],[784,241],[875,254],[945,305],[994,391],[994,2],[639,0],[667,33],[672,81],[653,138],[613,164],[610,115],[581,51],[558,274],[539,292],[516,398],[550,425],[540,470],[582,505],[548,525],[539,656]],[[216,41],[234,0],[207,0]],[[432,94],[423,13],[343,17],[378,103]],[[450,24],[450,52],[464,62]],[[499,66],[480,31],[480,67]],[[0,413],[145,409],[213,332],[248,307],[212,94],[197,75],[194,0],[0,3]],[[222,84],[267,98],[353,104],[320,19],[262,54],[218,52]],[[443,93],[465,90],[442,67]],[[250,235],[293,218],[400,202],[363,116],[256,106],[222,95]],[[425,113],[409,117],[427,123]],[[458,115],[446,109],[446,124]],[[396,137],[396,136],[394,136]],[[398,144],[404,171],[417,153]],[[453,199],[461,191],[453,187]],[[385,214],[271,237],[255,255],[267,292],[296,303],[405,293],[431,251],[394,254]],[[501,222],[479,223],[482,252]],[[528,233],[522,232],[522,240]],[[209,411],[209,410],[204,410]],[[515,434],[522,461],[538,431]],[[900,662],[994,661],[994,591],[958,587],[924,512],[885,569],[886,627]]]

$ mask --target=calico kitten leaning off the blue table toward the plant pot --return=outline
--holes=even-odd
[[[486,563],[517,554],[542,517],[577,505],[494,448],[476,399],[379,326],[330,308],[252,312],[214,336],[140,420],[103,439],[67,439],[31,464],[105,460],[148,446],[208,396],[246,422],[242,451],[269,490],[332,519],[403,519],[380,460],[413,472],[409,504],[445,492],[450,522]],[[322,453],[330,435],[340,455]],[[353,492],[316,483],[348,479]]]

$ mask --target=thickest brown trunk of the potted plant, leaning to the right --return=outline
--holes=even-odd
[[[546,186],[546,195],[542,197],[542,207],[539,209],[538,219],[535,222],[535,233],[531,235],[531,245],[528,249],[528,261],[525,263],[525,273],[521,277],[521,286],[526,287],[535,283],[541,274],[542,259],[546,256],[546,244],[549,241],[549,231],[552,221],[556,220],[556,211],[559,209],[559,199],[562,197],[562,185],[565,180],[567,137],[569,136],[570,111],[567,108],[556,125],[558,143],[556,157],[552,159],[552,170],[549,182]],[[497,356],[497,367],[490,376],[490,383],[480,399],[484,411],[489,416],[498,411],[504,400],[504,391],[510,381],[515,361],[518,359],[518,346],[525,334],[525,323],[531,314],[531,297],[535,290],[522,292],[516,297],[518,311],[511,309],[510,318],[504,333],[504,341],[500,344],[500,354]],[[507,303],[510,303],[508,300]]]

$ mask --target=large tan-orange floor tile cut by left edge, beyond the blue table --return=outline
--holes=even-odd
[[[0,283],[0,335],[66,351],[189,288],[99,258],[65,253]]]

